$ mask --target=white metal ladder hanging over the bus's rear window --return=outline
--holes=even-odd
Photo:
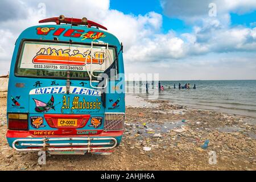
[[[101,46],[101,50],[99,51],[98,48],[93,48],[93,45],[94,46]],[[102,48],[104,47],[104,48]],[[102,50],[103,49],[103,50]],[[87,60],[88,60],[88,56],[90,54],[90,70],[88,69],[88,63],[87,63]],[[98,55],[96,57],[96,54]],[[102,57],[100,57],[100,55],[102,55]],[[102,61],[103,63],[102,64],[105,64],[107,65],[107,60],[110,61],[112,60],[112,56],[110,54],[110,51],[109,51],[109,44],[108,43],[102,43],[102,42],[92,42],[91,43],[91,47],[89,49],[89,53],[86,55],[86,58],[85,58],[85,67],[86,67],[86,71],[88,73],[88,76],[90,77],[90,86],[92,88],[96,88],[96,89],[104,89],[106,88],[106,86],[108,85],[108,78],[106,78],[105,80],[105,84],[104,86],[93,86],[92,82],[92,78],[95,77],[95,78],[102,78],[101,76],[96,76],[96,75],[93,75],[93,72],[94,71],[100,71],[100,73],[103,73],[105,71],[105,69],[92,69],[93,67],[93,59],[94,60],[100,60]],[[110,64],[109,64],[110,65]],[[106,68],[106,66],[105,66]]]

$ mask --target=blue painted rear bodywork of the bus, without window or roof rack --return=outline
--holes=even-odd
[[[43,34],[39,30],[44,30]],[[57,30],[63,32],[61,32],[61,34],[60,32],[56,33]],[[72,33],[65,33],[69,30],[72,30]],[[87,34],[87,32],[89,33]],[[95,37],[99,32],[104,36]],[[113,146],[115,142],[114,145],[118,146],[123,134],[125,93],[117,93],[116,91],[125,89],[125,80],[123,78],[117,77],[114,80],[108,80],[106,86],[108,92],[104,94],[103,92],[97,92],[99,89],[93,88],[90,85],[89,79],[80,79],[79,77],[72,78],[71,76],[71,92],[67,93],[68,78],[66,75],[61,76],[61,73],[63,74],[67,72],[67,70],[62,70],[60,73],[56,71],[55,74],[57,76],[51,75],[48,77],[47,74],[55,68],[49,67],[49,69],[40,69],[38,64],[34,63],[34,60],[32,61],[33,63],[30,63],[30,60],[26,60],[26,53],[29,55],[29,51],[22,52],[25,49],[23,47],[24,43],[35,44],[34,47],[41,43],[53,46],[59,46],[61,44],[75,47],[79,47],[81,44],[90,48],[92,42],[108,43],[108,45],[112,47],[115,56],[118,55],[117,72],[119,74],[124,73],[122,52],[118,54],[121,49],[121,44],[114,35],[107,31],[98,30],[97,28],[88,28],[86,26],[48,24],[27,28],[20,34],[19,38],[16,40],[11,60],[7,94],[7,122],[9,125],[7,141],[11,147],[20,151],[27,151],[26,149],[38,151],[53,148],[51,152],[57,151],[57,153],[60,154],[76,154],[76,151],[89,151],[101,154],[106,152],[104,147],[108,149],[108,146]],[[27,49],[29,50],[29,48]],[[18,73],[17,67],[23,67],[22,62],[18,63],[22,54],[24,57],[22,61],[26,63],[24,65],[26,65],[26,67],[31,66],[31,68],[32,66],[37,67],[36,71],[26,68],[26,70],[22,72],[22,75]],[[51,65],[54,64],[51,63]],[[40,64],[40,66],[44,67],[44,64]],[[59,66],[60,65],[58,65],[58,68],[60,68]],[[61,66],[63,67],[65,65]],[[77,66],[74,68],[80,67]],[[32,73],[30,72],[31,70]],[[31,76],[31,74],[38,75]],[[97,87],[97,84],[99,84],[98,81],[92,81],[93,86]],[[14,124],[9,124],[9,122],[15,121],[16,117],[16,115],[11,115],[11,118],[14,118],[11,120],[9,116],[12,113],[27,114],[28,128],[23,130],[11,129],[10,127],[13,127],[11,125]],[[113,130],[111,126],[105,125],[106,114],[109,114],[108,122],[110,123],[109,125],[113,125]],[[61,118],[67,119],[70,118],[70,116],[71,120],[75,119],[76,122],[69,121],[70,119],[63,122],[74,122],[76,125],[80,125],[80,127],[75,125],[69,126],[67,123],[65,123],[66,125],[61,126],[60,124],[59,126]],[[113,121],[111,117],[113,117]],[[122,126],[115,126],[114,120],[119,122],[118,125]],[[22,121],[26,122],[26,119],[23,118]],[[95,140],[93,138],[95,138]],[[70,146],[65,145],[65,143],[73,144]],[[76,143],[79,143],[79,145],[75,145]],[[91,143],[94,144],[90,145]],[[99,144],[97,145],[97,143]],[[36,146],[36,144],[40,145]],[[60,144],[63,150],[60,150],[57,144]],[[96,150],[93,150],[93,147],[96,147]],[[80,148],[82,149],[80,150]]]

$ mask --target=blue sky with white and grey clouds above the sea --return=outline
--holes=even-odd
[[[19,34],[60,14],[106,26],[123,43],[126,73],[256,80],[255,0],[1,0],[0,75]]]

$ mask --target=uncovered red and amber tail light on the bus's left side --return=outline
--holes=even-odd
[[[8,129],[9,130],[28,130],[27,114],[9,113]]]

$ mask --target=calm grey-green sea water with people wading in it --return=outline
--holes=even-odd
[[[190,89],[178,89],[179,83],[181,86],[189,83]],[[164,86],[163,91],[158,91],[158,82],[153,85],[148,82],[148,93],[145,81],[128,81],[126,84],[127,94],[152,100],[169,100],[172,104],[195,109],[216,110],[256,118],[256,80],[160,81]],[[194,84],[196,89],[193,89]]]

